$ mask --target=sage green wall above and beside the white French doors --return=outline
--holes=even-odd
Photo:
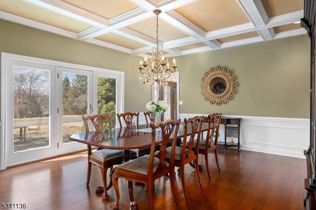
[[[0,20],[0,52],[125,72],[125,111],[144,112],[152,89],[139,81],[138,56]]]

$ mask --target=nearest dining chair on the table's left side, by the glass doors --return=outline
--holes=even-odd
[[[82,116],[83,123],[86,129],[86,132],[89,132],[88,122],[91,122],[96,130],[96,134],[102,138],[104,137],[104,128],[105,124],[108,126],[109,136],[112,138],[112,116],[110,115],[93,115],[93,116]],[[111,168],[112,171],[114,165],[121,164],[123,162],[123,150],[111,150],[111,149],[100,149],[98,148],[92,152],[91,145],[88,145],[88,173],[87,173],[87,182],[86,185],[89,185],[90,175],[91,175],[91,165],[95,165],[101,169],[102,180],[103,180],[103,193],[102,199],[107,200],[109,190],[112,186],[112,180],[110,179],[109,184],[107,185],[107,170]]]

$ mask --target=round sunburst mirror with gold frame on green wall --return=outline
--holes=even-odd
[[[222,67],[218,65],[210,68],[202,78],[202,83],[200,85],[202,90],[201,94],[204,96],[206,101],[209,101],[210,104],[216,104],[218,106],[221,104],[227,104],[230,100],[234,99],[238,92],[237,87],[239,86],[239,83],[237,79],[238,76],[235,75],[234,70],[229,69],[227,66]],[[226,83],[226,88],[224,81]],[[214,83],[221,84],[222,90],[215,92],[214,89],[217,89],[218,87],[214,87]]]

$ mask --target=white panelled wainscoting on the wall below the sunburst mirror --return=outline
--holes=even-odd
[[[184,120],[196,115],[204,114],[181,113],[180,118]],[[310,142],[310,119],[224,116],[241,118],[241,150],[305,158],[304,150],[308,149]],[[219,140],[224,141],[224,125],[220,126]],[[237,139],[233,140],[237,144]],[[231,138],[227,137],[228,144],[230,141]]]

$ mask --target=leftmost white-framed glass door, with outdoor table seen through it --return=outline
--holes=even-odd
[[[56,95],[51,90],[55,88],[52,75],[55,67],[9,59],[4,71],[1,75],[5,76],[6,84],[1,126],[4,127],[6,166],[54,156],[57,142],[53,138],[57,136],[52,135],[51,122],[56,119],[51,115],[55,109],[51,102],[56,100]]]

